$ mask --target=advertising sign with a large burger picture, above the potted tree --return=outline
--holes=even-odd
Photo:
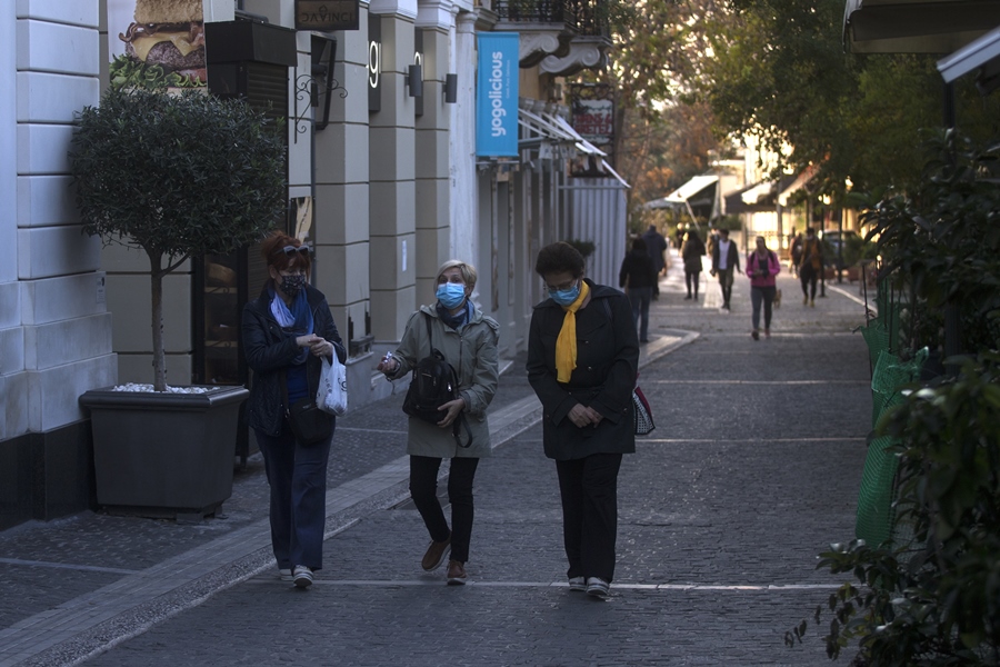
[[[202,88],[202,0],[108,0],[112,88]]]

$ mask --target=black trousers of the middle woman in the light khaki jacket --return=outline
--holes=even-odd
[[[478,458],[451,459],[448,475],[448,501],[451,504],[451,530],[444,510],[438,501],[438,470],[441,459],[429,456],[410,457],[410,496],[423,525],[434,541],[451,536],[451,559],[469,560],[469,541],[472,538],[472,480],[476,478]]]

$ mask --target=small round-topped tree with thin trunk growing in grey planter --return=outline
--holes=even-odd
[[[163,277],[260,240],[281,218],[281,123],[202,91],[111,89],[79,115],[70,158],[83,230],[149,257],[153,388],[164,391]]]

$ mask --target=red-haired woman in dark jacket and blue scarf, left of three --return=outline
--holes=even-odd
[[[253,370],[247,401],[250,428],[271,487],[271,547],[281,578],[299,588],[312,584],[323,565],[327,520],[327,461],[333,439],[300,442],[288,424],[288,406],[316,397],[323,357],[341,364],[347,351],[327,298],[309,285],[309,247],[274,233],[261,245],[269,280],[243,307],[242,339]]]

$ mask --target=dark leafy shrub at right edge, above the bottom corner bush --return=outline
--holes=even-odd
[[[929,160],[910,193],[884,197],[861,219],[879,235],[884,275],[912,295],[911,347],[941,347],[947,305],[961,311],[961,349],[1000,341],[1000,146],[978,148],[954,130],[924,143]],[[922,338],[921,338],[922,337]]]

